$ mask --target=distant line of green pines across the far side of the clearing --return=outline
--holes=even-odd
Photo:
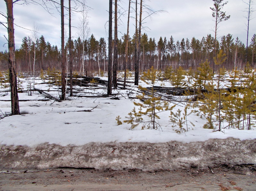
[[[127,35],[118,40],[118,70],[124,69],[125,64],[125,42]],[[83,56],[84,43],[84,56]],[[128,69],[134,70],[135,36],[129,37],[128,41]],[[67,47],[67,46],[66,46]],[[231,34],[222,36],[217,41],[216,50],[222,49],[227,56],[224,63],[226,69],[243,69],[245,66],[246,46],[238,39],[234,40]],[[67,48],[66,48],[67,50]],[[149,38],[146,33],[141,37],[140,71],[150,69],[152,66],[158,70],[164,70],[166,66],[184,69],[197,68],[200,63],[208,60],[213,66],[214,37],[208,34],[201,40],[194,37],[176,41],[171,36],[156,41]],[[92,34],[84,42],[78,38],[72,41],[73,68],[76,71],[82,70],[82,60],[86,71],[107,71],[107,45],[104,38],[96,40]],[[66,54],[67,55],[67,54]],[[19,49],[16,49],[16,70],[32,71],[35,60],[35,70],[47,70],[47,68],[61,68],[60,49],[57,46],[45,42],[44,36],[32,40],[24,37]],[[69,58],[68,58],[69,59]],[[67,59],[66,59],[67,60]],[[248,62],[255,68],[256,63],[256,35],[254,34],[248,47]],[[8,69],[8,53],[0,52],[0,70]]]

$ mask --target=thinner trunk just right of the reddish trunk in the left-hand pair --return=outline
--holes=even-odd
[[[71,6],[69,0],[69,72],[70,72],[70,96],[73,96],[73,77],[72,77],[72,47],[71,47]]]

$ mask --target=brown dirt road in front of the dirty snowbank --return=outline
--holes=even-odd
[[[82,190],[256,190],[256,166],[221,165],[183,170],[95,170],[55,168],[47,171],[0,173],[0,190],[82,191]],[[213,173],[212,173],[212,172]]]

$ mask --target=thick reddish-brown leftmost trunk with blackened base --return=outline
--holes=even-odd
[[[15,71],[15,44],[14,44],[14,27],[13,27],[13,3],[12,0],[4,0],[7,9],[7,31],[8,31],[8,65],[11,88],[11,107],[12,115],[20,114],[19,98],[17,91],[17,74]]]

